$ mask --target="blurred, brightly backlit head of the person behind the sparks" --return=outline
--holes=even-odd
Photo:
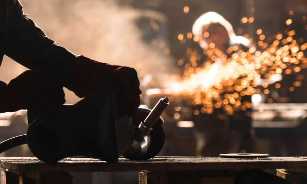
[[[198,36],[203,49],[213,43],[211,46],[225,50],[231,37],[235,36],[231,24],[216,12],[202,14],[193,24],[192,32]]]

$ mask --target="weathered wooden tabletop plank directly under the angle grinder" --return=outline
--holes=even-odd
[[[266,157],[258,159],[227,159],[221,157],[155,157],[133,161],[119,158],[118,163],[99,159],[70,157],[57,163],[44,163],[37,158],[0,157],[0,167],[9,171],[188,171],[243,169],[304,169],[307,157]]]

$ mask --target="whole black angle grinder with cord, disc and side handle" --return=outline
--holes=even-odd
[[[164,144],[160,115],[169,98],[161,98],[153,110],[138,108],[131,118],[120,113],[117,94],[98,90],[74,105],[28,111],[27,134],[3,141],[0,152],[28,144],[45,162],[76,155],[110,162],[118,161],[120,155],[127,159],[156,156]]]

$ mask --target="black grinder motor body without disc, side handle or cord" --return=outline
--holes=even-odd
[[[28,111],[30,150],[45,162],[74,155],[116,162],[133,140],[131,117],[120,114],[117,95],[107,88],[75,105]]]

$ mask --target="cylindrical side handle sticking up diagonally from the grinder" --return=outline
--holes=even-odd
[[[158,118],[161,116],[163,111],[166,109],[166,107],[169,105],[169,98],[161,98],[158,103],[153,107],[152,111],[149,113],[149,115],[144,120],[144,125],[147,127],[152,128],[153,125],[156,123]]]

